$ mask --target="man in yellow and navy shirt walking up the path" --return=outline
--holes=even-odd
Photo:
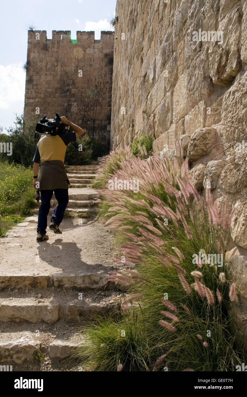
[[[37,191],[37,201],[39,193],[41,194],[36,241],[44,241],[49,238],[46,234],[46,227],[53,192],[58,204],[52,214],[49,228],[54,233],[62,233],[59,225],[63,220],[63,214],[69,202],[68,185],[70,184],[64,166],[65,153],[67,145],[75,142],[78,137],[84,134],[83,129],[68,121],[65,116],[61,117],[61,122],[74,131],[62,132],[54,136],[43,135],[38,141],[33,158],[33,187]],[[38,178],[39,163],[40,175]]]

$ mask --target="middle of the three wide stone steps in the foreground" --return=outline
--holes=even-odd
[[[52,324],[58,320],[84,322],[92,320],[95,316],[116,318],[119,315],[120,293],[116,295],[108,291],[109,295],[102,297],[92,291],[84,293],[63,289],[61,293],[54,291],[52,295],[49,295],[50,289],[40,291],[41,298],[0,297],[0,322],[25,321],[33,324],[41,322]]]

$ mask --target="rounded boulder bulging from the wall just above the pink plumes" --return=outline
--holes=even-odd
[[[205,127],[197,129],[190,137],[188,146],[188,160],[195,161],[201,156],[209,153],[216,139],[216,129]]]

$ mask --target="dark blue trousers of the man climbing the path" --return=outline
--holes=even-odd
[[[60,225],[63,220],[64,211],[69,202],[69,193],[68,189],[54,189],[53,190],[40,190],[41,194],[41,204],[38,210],[38,227],[37,233],[40,232],[41,234],[46,233],[47,227],[47,215],[51,208],[51,198],[52,195],[56,197],[58,202],[57,206],[55,207],[51,222],[54,221],[55,224]]]

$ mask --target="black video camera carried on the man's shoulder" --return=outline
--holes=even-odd
[[[38,138],[38,134],[52,135],[55,137],[56,135],[69,131],[71,131],[71,127],[61,122],[59,114],[56,113],[56,117],[53,119],[47,119],[45,114],[36,124],[34,137]],[[75,146],[77,149],[79,148],[79,144],[77,142],[71,142],[71,145]],[[82,152],[85,152],[84,148],[82,149]]]

